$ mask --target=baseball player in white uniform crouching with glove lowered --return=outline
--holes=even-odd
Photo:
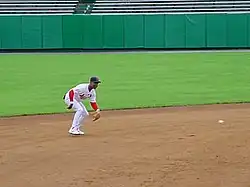
[[[95,91],[99,83],[101,83],[101,81],[98,77],[91,77],[89,83],[79,84],[74,88],[71,88],[63,96],[67,109],[73,109],[75,111],[72,126],[69,129],[70,134],[84,135],[84,132],[80,130],[80,127],[84,118],[87,117],[89,113],[82,103],[83,100],[89,99],[91,107],[95,110],[93,121],[100,118],[100,109],[96,103]]]

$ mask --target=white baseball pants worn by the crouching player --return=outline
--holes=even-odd
[[[70,100],[69,100],[69,93],[65,95],[64,102],[67,106],[70,105]],[[75,111],[73,122],[71,129],[72,130],[78,130],[81,127],[81,124],[83,123],[83,120],[86,116],[89,115],[86,107],[82,102],[79,102],[77,100],[73,100],[73,107],[72,109]]]

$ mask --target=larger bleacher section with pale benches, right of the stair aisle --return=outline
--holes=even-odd
[[[248,12],[250,0],[97,0],[91,14]]]

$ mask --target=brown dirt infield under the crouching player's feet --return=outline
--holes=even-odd
[[[249,104],[103,112],[81,137],[71,118],[0,118],[0,186],[250,186]]]

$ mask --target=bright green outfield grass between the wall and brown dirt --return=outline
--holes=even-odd
[[[65,112],[63,94],[91,75],[103,80],[103,109],[248,102],[249,60],[236,52],[0,55],[0,116]]]

